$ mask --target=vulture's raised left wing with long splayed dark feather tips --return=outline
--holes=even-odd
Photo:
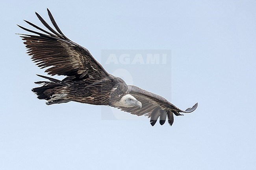
[[[43,33],[18,25],[26,31],[37,34],[20,34],[33,62],[37,63],[36,65],[40,68],[47,68],[45,72],[49,75],[76,76],[80,79],[85,75],[91,75],[96,79],[108,77],[107,71],[86,48],[72,42],[61,32],[52,14],[48,9],[47,11],[56,31],[38,13],[35,14],[50,32],[26,20],[24,21]]]

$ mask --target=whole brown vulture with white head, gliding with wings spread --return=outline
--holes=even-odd
[[[38,75],[45,80],[35,82],[41,86],[32,91],[38,99],[46,100],[47,105],[74,101],[112,106],[134,115],[146,115],[152,126],[158,119],[161,125],[168,119],[172,126],[173,114],[180,116],[197,108],[198,103],[183,111],[160,95],[127,85],[121,78],[109,74],[88,49],[71,41],[61,32],[49,9],[47,11],[55,30],[38,13],[35,14],[47,31],[27,20],[24,21],[39,32],[18,25],[34,34],[19,34],[32,61],[39,68],[47,68],[45,72],[48,75],[65,76],[63,80],[58,80]]]

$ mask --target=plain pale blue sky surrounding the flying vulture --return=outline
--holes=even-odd
[[[131,65],[134,85],[197,110],[152,127],[102,120],[101,106],[38,100],[35,74],[46,73],[15,33],[26,33],[23,19],[42,26],[35,11],[49,21],[47,7],[99,62],[103,49],[171,50],[161,68]],[[256,169],[255,0],[2,1],[0,14],[1,170]]]

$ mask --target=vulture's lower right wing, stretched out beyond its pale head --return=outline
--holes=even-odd
[[[149,91],[138,88],[137,86],[128,85],[128,88],[130,91],[129,94],[134,96],[138,101],[142,103],[142,108],[140,109],[138,107],[120,107],[120,109],[138,116],[147,115],[148,117],[150,117],[150,123],[152,126],[156,124],[156,121],[159,117],[161,125],[165,123],[165,120],[167,118],[169,124],[172,125],[174,121],[173,114],[176,116],[181,116],[183,114],[181,114],[180,112],[190,113],[193,112],[198,106],[198,103],[196,103],[192,108],[187,108],[185,111],[183,111],[171,104],[171,102],[167,101],[160,95],[150,93]]]

